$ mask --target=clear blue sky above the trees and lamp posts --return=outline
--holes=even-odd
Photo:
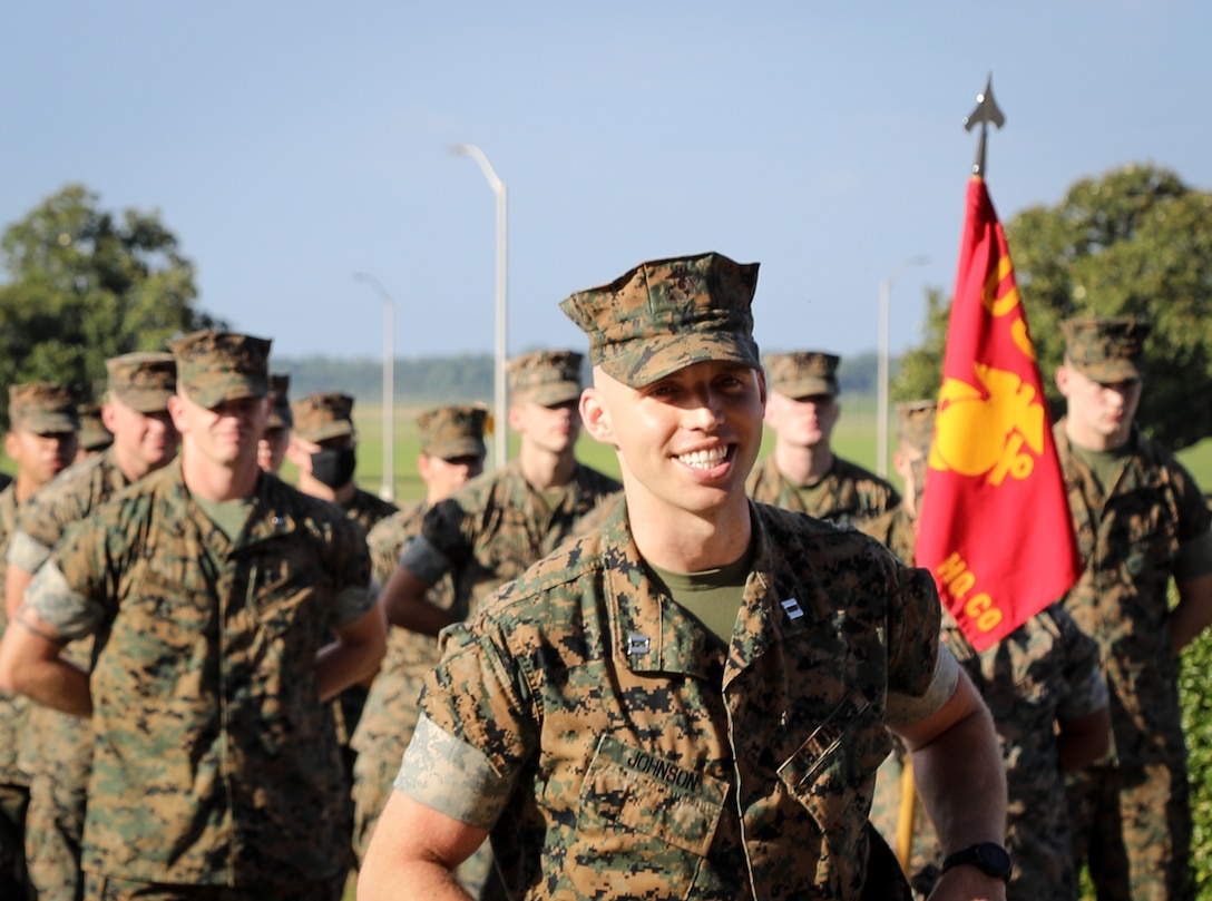
[[[7,225],[64,184],[159,211],[200,305],[284,356],[491,351],[509,189],[509,352],[584,348],[558,303],[656,257],[761,262],[766,350],[916,342],[950,293],[962,128],[991,71],[1002,219],[1130,162],[1212,185],[1212,5],[1035,2],[10,4]],[[1201,111],[1202,110],[1202,111]],[[1013,248],[1012,248],[1013,249]]]

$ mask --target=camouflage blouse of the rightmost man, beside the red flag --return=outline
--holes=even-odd
[[[1086,563],[1062,603],[1102,649],[1115,759],[1124,767],[1180,762],[1187,752],[1167,589],[1171,575],[1210,570],[1207,506],[1183,465],[1134,429],[1105,497],[1074,455],[1064,419],[1053,434]]]

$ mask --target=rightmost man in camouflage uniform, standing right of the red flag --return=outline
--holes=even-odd
[[[1178,655],[1212,622],[1212,535],[1195,480],[1133,425],[1149,327],[1063,323],[1053,432],[1085,572],[1063,603],[1102,652],[1111,754],[1069,779],[1076,856],[1100,901],[1188,896],[1191,840]],[[1167,597],[1171,578],[1178,603]]]

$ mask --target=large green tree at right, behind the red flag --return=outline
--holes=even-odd
[[[1074,184],[1056,207],[1006,223],[1006,239],[1053,409],[1064,355],[1060,321],[1137,316],[1153,323],[1137,421],[1179,449],[1207,437],[1191,398],[1212,390],[1212,194],[1154,166],[1126,166]],[[898,398],[938,394],[950,302],[927,297],[926,340],[902,361]]]

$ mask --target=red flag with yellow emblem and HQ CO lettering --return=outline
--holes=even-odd
[[[1027,311],[981,176],[968,182],[915,556],[977,650],[1081,574]]]

